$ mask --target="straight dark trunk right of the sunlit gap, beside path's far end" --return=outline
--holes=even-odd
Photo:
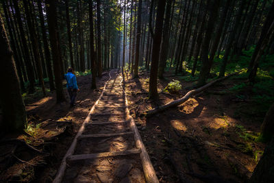
[[[138,63],[140,52],[140,34],[141,34],[141,18],[142,18],[142,0],[139,0],[138,17],[137,17],[137,35],[135,44],[135,63],[134,63],[134,77],[138,77]]]

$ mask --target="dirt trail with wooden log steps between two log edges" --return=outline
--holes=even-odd
[[[132,127],[135,124],[127,118],[121,82],[121,74],[111,71],[90,121],[77,138],[74,154],[66,158],[61,182],[145,182],[142,151],[137,147],[140,141]],[[145,163],[151,165],[150,160]],[[55,181],[60,178],[56,176]]]

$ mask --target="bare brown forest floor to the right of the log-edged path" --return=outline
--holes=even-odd
[[[166,73],[158,82],[160,97],[152,101],[149,72],[138,79],[129,73],[126,77],[129,109],[160,182],[246,182],[251,177],[264,150],[264,144],[252,139],[260,132],[262,117],[240,113],[251,110],[253,103],[224,92],[244,79],[229,78],[176,108],[145,117],[146,110],[186,95],[193,82]],[[173,80],[181,82],[182,90],[162,92]]]

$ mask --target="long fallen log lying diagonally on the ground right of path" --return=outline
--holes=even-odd
[[[209,82],[208,84],[202,86],[201,88],[197,88],[196,90],[190,90],[188,93],[186,93],[186,95],[184,95],[184,97],[182,97],[181,99],[177,99],[175,101],[170,101],[169,103],[166,103],[162,106],[159,106],[158,108],[153,108],[152,110],[147,110],[145,112],[143,112],[142,114],[145,114],[145,116],[149,117],[152,114],[156,114],[158,112],[162,112],[163,110],[166,110],[167,108],[172,108],[175,106],[179,106],[182,103],[184,103],[185,101],[187,101],[190,97],[192,97],[193,95],[202,92],[203,90],[206,90],[208,87],[212,86],[213,84],[215,84],[216,82],[221,82],[225,79],[227,79],[228,77],[231,77],[232,75],[236,75],[238,73],[240,73],[241,71],[238,71],[236,73],[227,75],[225,77],[221,77],[217,80],[214,80],[212,82]]]

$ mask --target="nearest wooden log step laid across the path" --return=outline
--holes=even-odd
[[[98,154],[77,154],[77,155],[69,156],[67,160],[69,161],[86,160],[86,159],[103,158],[103,157],[109,157],[109,156],[126,156],[129,154],[140,154],[140,149],[128,149],[125,151],[103,152]]]

